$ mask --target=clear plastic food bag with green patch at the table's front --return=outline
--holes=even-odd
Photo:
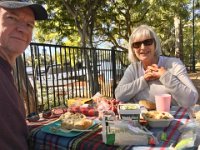
[[[108,145],[156,145],[157,138],[139,126],[138,122],[116,120],[104,116],[102,120],[102,138]]]

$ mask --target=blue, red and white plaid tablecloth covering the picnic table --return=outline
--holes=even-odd
[[[178,141],[180,132],[178,128],[189,121],[187,110],[184,108],[173,108],[171,113],[174,115],[170,125],[166,128],[150,129],[155,136],[159,136],[162,132],[167,134],[165,141],[160,140],[159,145],[149,146],[110,146],[102,142],[99,124],[94,126],[93,131],[85,132],[76,137],[63,137],[48,134],[41,131],[42,126],[32,129],[29,136],[30,149],[32,150],[145,150],[145,149],[169,149]]]

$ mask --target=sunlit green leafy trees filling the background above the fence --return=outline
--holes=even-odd
[[[191,53],[190,0],[38,0],[38,3],[44,4],[49,13],[48,21],[37,24],[35,39],[40,42],[87,47],[109,42],[127,51],[132,29],[148,24],[158,33],[163,53],[174,55],[174,18],[178,17],[182,23],[184,55]],[[198,33],[196,25],[195,48],[199,47]]]

